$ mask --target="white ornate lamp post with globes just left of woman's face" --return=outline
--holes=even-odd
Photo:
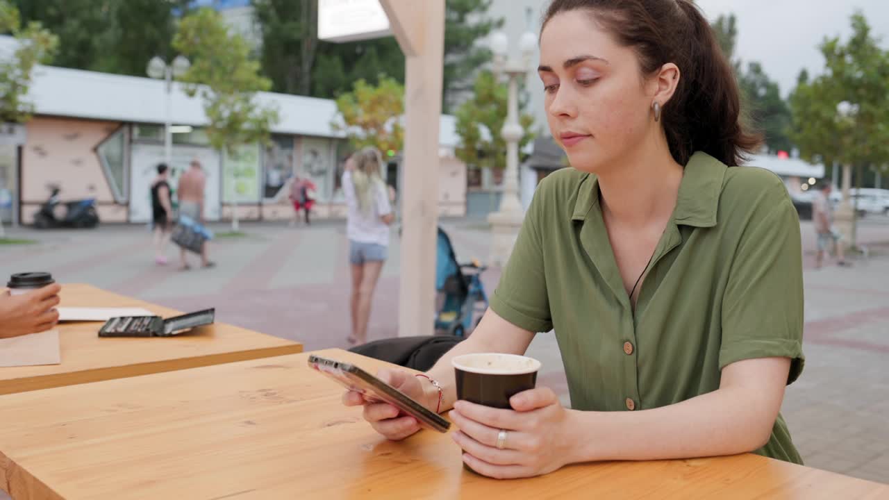
[[[496,32],[491,36],[494,72],[497,75],[505,74],[509,78],[507,117],[501,130],[501,137],[506,141],[506,172],[503,174],[500,209],[488,216],[493,233],[493,265],[504,265],[509,261],[509,254],[512,253],[518,230],[525,218],[525,211],[518,199],[518,143],[525,133],[518,121],[518,78],[526,77],[531,69],[537,36],[526,31],[519,41],[519,48],[522,52],[521,59],[512,60],[509,58],[509,38],[506,34]]]

